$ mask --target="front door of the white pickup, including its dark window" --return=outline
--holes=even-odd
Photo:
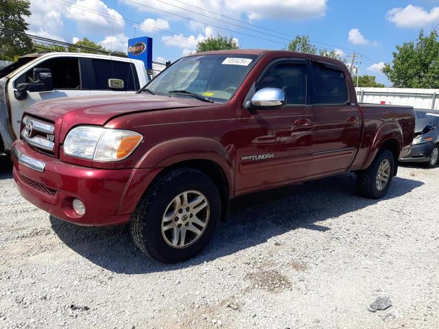
[[[16,85],[32,82],[33,71],[35,68],[50,69],[54,80],[54,90],[42,92],[29,92],[23,100],[16,99],[14,90]],[[13,77],[8,84],[8,95],[11,106],[12,130],[16,138],[20,138],[21,117],[23,112],[32,104],[38,101],[54,99],[59,97],[86,96],[90,95],[89,90],[82,90],[79,58],[75,57],[56,57],[36,62],[34,66],[25,73]]]

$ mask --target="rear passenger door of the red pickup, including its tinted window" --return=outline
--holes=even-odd
[[[340,66],[311,61],[314,112],[310,175],[344,171],[351,164],[361,137],[361,113],[351,103]]]

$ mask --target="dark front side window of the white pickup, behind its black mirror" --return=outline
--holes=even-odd
[[[54,89],[81,89],[80,66],[78,58],[53,58],[45,60],[33,66],[32,69],[23,73],[17,80],[17,84],[32,82],[34,68],[50,69],[54,80]]]

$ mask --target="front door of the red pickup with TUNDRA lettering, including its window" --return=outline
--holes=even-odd
[[[308,175],[314,118],[307,95],[308,75],[305,59],[274,60],[259,77],[254,92],[280,88],[287,105],[240,109],[237,195],[260,190],[261,186],[285,185]]]

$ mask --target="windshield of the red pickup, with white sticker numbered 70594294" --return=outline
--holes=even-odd
[[[235,94],[256,59],[257,56],[244,54],[189,56],[169,66],[144,90],[173,97],[200,95],[224,103]]]

